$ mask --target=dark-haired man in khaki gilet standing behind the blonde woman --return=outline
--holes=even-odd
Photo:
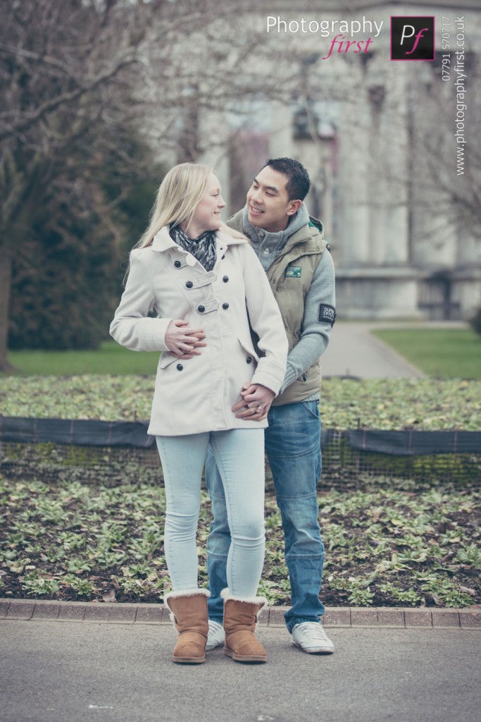
[[[317,482],[321,475],[319,357],[335,321],[334,266],[322,224],[309,217],[304,198],[310,181],[291,158],[268,160],[247,191],[247,204],[227,222],[250,238],[281,308],[289,342],[286,377],[272,406],[262,406],[256,387],[246,385],[234,409],[241,418],[268,415],[265,450],[281,510],[292,606],[285,614],[292,643],[307,653],[332,653],[319,617],[324,564]],[[207,649],[224,643],[221,590],[228,586],[230,534],[224,490],[213,455],[206,459],[206,484],[213,522],[208,537],[211,597]]]

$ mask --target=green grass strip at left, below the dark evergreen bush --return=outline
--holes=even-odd
[[[27,376],[79,376],[83,374],[154,375],[159,354],[124,349],[105,341],[97,351],[11,351],[9,362]]]

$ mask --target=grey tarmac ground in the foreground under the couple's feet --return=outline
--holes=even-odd
[[[0,622],[2,722],[477,722],[477,630],[344,628],[336,652],[260,627],[264,665],[172,664],[171,625]]]

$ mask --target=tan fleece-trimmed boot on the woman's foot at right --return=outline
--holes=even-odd
[[[255,623],[260,610],[267,605],[262,596],[242,598],[231,596],[228,589],[221,593],[224,599],[224,654],[236,662],[267,662],[268,656],[255,638]]]

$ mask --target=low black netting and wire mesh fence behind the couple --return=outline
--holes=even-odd
[[[0,417],[0,473],[59,483],[159,484],[162,468],[147,426]],[[389,480],[413,488],[481,485],[481,432],[331,429],[323,430],[321,445],[325,488]]]

